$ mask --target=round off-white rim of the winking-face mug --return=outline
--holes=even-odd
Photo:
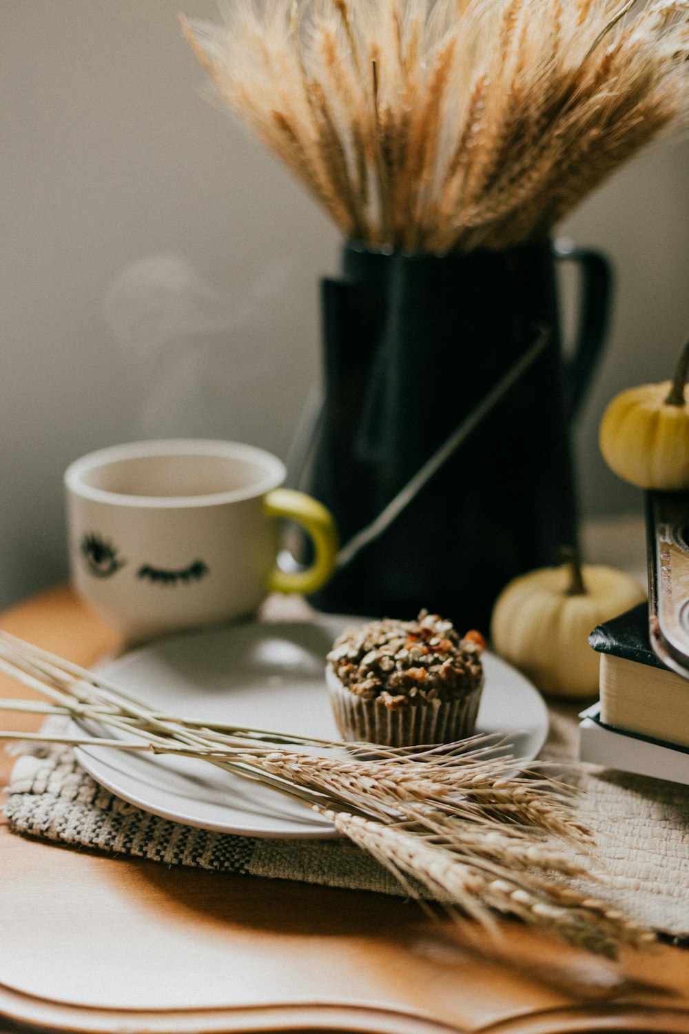
[[[227,459],[252,460],[263,466],[264,476],[251,485],[232,488],[222,492],[207,492],[201,495],[130,495],[112,492],[104,488],[94,488],[84,482],[84,477],[113,462],[127,459],[146,459],[157,456],[222,456]],[[253,499],[285,480],[285,464],[273,453],[256,446],[240,442],[224,442],[216,438],[152,438],[146,442],[128,442],[106,446],[87,453],[73,460],[64,473],[66,489],[80,498],[111,506],[137,507],[139,509],[179,510],[192,507],[222,506]]]

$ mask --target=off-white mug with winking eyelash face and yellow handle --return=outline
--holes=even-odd
[[[128,642],[253,613],[273,590],[310,592],[328,578],[328,511],[280,488],[284,464],[228,442],[113,446],[65,473],[72,582]],[[276,566],[278,519],[302,524],[315,560]]]

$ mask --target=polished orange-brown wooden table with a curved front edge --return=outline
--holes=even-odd
[[[87,666],[118,646],[66,588],[0,626]],[[28,695],[9,679],[0,692]],[[0,845],[5,1030],[689,1032],[679,947],[614,964],[506,922],[502,957],[481,957],[376,894],[103,857],[6,826]]]

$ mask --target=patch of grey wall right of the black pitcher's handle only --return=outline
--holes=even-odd
[[[607,349],[575,437],[584,509],[640,511],[640,493],[604,466],[597,428],[618,391],[669,378],[689,338],[689,144],[656,144],[562,229],[605,251],[616,271]]]

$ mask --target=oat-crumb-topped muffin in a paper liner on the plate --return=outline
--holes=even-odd
[[[470,736],[483,688],[478,632],[460,636],[422,610],[346,629],[327,655],[326,681],[343,739],[386,747]]]

